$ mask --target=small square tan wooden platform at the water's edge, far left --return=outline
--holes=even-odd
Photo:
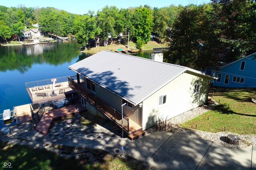
[[[19,123],[24,123],[32,120],[30,104],[14,107],[16,110]]]

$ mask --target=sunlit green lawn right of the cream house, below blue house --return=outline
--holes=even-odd
[[[256,134],[256,88],[218,88],[213,100],[219,105],[206,113],[181,124],[182,127],[208,132],[226,131],[238,134]],[[229,105],[229,107],[228,107]],[[209,120],[208,120],[209,117]]]

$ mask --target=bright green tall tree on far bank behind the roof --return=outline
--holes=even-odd
[[[148,6],[140,6],[136,8],[132,18],[132,39],[136,42],[137,48],[150,40],[150,35],[153,30],[153,11]]]

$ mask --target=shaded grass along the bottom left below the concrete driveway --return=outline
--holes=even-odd
[[[59,148],[61,149],[61,148]],[[68,148],[68,151],[72,149]],[[90,151],[88,151],[90,152]],[[32,149],[31,147],[23,145],[12,145],[0,141],[0,164],[3,166],[4,162],[10,162],[12,169],[27,169],[27,170],[130,170],[134,169],[120,160],[118,157],[106,156],[100,152],[90,152],[90,155],[97,157],[94,162],[84,156],[79,159],[75,157],[64,158],[56,153],[44,149]]]

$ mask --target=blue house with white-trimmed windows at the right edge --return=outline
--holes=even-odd
[[[246,88],[256,87],[256,53],[243,57],[214,70],[214,86]]]

